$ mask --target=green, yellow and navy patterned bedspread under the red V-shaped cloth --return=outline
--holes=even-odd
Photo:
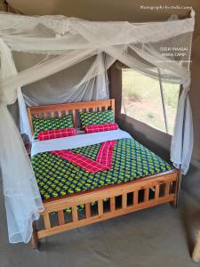
[[[71,151],[95,160],[99,150],[100,143]],[[128,182],[173,169],[172,165],[131,138],[116,141],[112,168],[103,172],[89,173],[50,152],[36,154],[32,165],[43,199]]]

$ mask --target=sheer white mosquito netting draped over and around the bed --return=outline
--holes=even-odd
[[[183,85],[171,159],[185,174],[193,145],[188,61],[194,23],[194,12],[186,20],[139,24],[0,13],[0,160],[12,243],[28,242],[43,204],[7,105],[18,99],[21,134],[31,139],[25,101],[37,105],[108,98],[107,69],[116,60],[151,77],[158,77],[159,69],[164,80]],[[165,56],[160,47],[170,45],[188,50]]]

